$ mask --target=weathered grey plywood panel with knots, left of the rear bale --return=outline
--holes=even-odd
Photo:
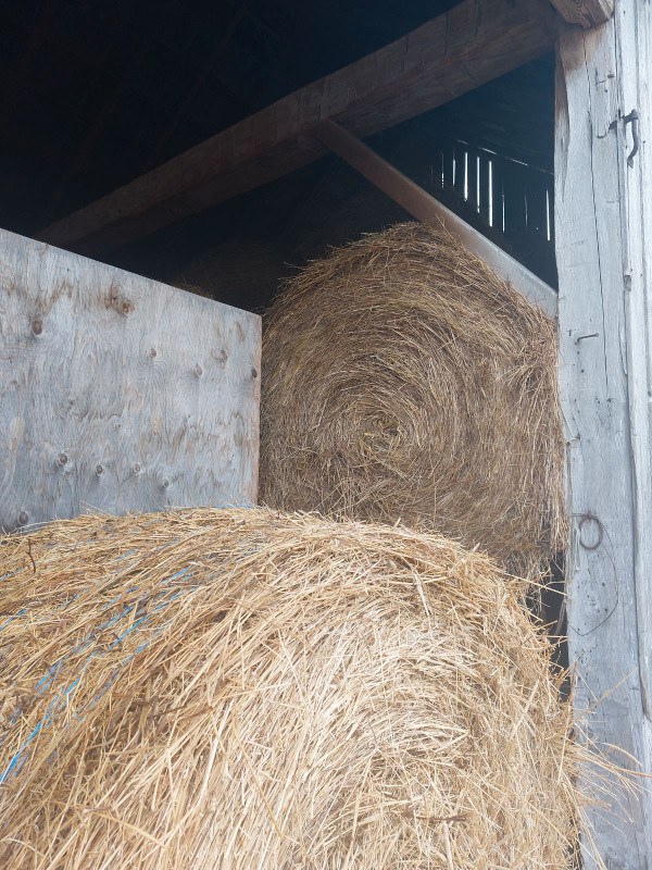
[[[0,529],[253,502],[260,318],[0,231]]]

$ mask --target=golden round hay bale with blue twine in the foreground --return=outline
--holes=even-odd
[[[264,509],[2,544],[0,866],[569,866],[569,708],[484,557]]]

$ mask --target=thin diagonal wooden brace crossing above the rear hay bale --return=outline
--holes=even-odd
[[[313,135],[418,221],[435,226],[443,224],[451,235],[484,260],[499,277],[509,281],[547,314],[556,316],[557,295],[552,287],[403,175],[368,145],[334,121],[318,124]]]

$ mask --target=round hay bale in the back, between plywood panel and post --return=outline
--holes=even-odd
[[[528,575],[564,548],[554,325],[442,229],[291,279],[262,387],[263,502],[435,529]]]

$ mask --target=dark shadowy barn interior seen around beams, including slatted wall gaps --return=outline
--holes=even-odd
[[[48,240],[53,222],[455,5],[3,3],[0,224]],[[554,59],[543,54],[367,141],[555,287],[553,79]],[[327,154],[127,244],[84,252],[263,312],[279,278],[302,263],[409,219]]]

